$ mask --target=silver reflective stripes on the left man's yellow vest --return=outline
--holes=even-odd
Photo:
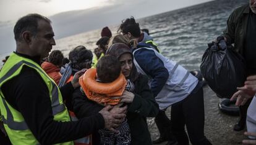
[[[30,63],[30,62],[27,62],[27,61],[20,61],[19,63],[15,64],[0,79],[0,84],[1,84],[2,81],[6,80],[8,77],[10,77],[15,71],[17,71],[17,69],[19,69],[20,66],[22,66],[22,64],[26,64],[26,65],[31,66],[33,68],[38,68],[33,63]],[[40,70],[43,74],[45,74],[45,72],[43,72],[40,68],[38,68],[38,70]],[[47,76],[47,74],[45,74],[45,76],[49,78],[49,76]],[[51,95],[52,95],[51,107],[53,109],[53,116],[54,116],[54,115],[58,114],[59,112],[64,111],[65,106],[64,106],[64,104],[59,103],[58,87],[56,86],[56,84],[54,84],[53,81],[51,81],[51,83],[53,85],[53,89],[51,91]],[[3,122],[6,123],[8,125],[8,127],[11,128],[12,130],[28,130],[27,123],[25,121],[23,121],[23,122],[15,122],[14,121],[14,117],[12,116],[12,113],[11,113],[10,109],[8,108],[8,106],[7,106],[5,98],[3,98],[2,96],[1,96],[1,98],[2,98],[2,101],[3,101],[4,106],[6,108],[6,111],[7,111],[7,119],[2,117]]]

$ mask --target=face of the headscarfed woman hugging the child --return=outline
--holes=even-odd
[[[132,70],[132,56],[130,53],[124,53],[119,57],[121,63],[121,71],[125,77],[129,77],[130,71]]]

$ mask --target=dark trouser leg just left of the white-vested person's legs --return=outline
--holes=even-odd
[[[166,116],[165,111],[160,110],[155,117],[156,126],[160,133],[160,138],[172,140],[171,120]]]

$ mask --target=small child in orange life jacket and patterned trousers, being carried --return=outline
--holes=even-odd
[[[95,68],[88,69],[80,77],[81,91],[89,100],[101,105],[119,105],[124,90],[130,90],[126,77],[121,72],[121,64],[116,57],[106,55],[100,58]],[[110,130],[99,130],[101,144],[130,144],[130,129],[127,119],[115,128],[118,133]]]

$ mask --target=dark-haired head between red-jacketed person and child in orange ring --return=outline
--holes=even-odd
[[[86,49],[83,45],[79,45],[69,52],[70,65],[73,69],[91,68],[92,58],[92,51]]]

